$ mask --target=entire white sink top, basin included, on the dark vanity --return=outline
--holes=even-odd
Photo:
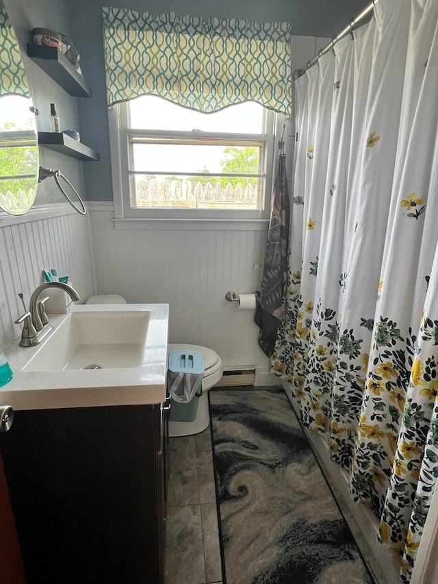
[[[14,409],[146,405],[166,401],[167,304],[75,305],[49,316],[40,344],[6,349]],[[90,369],[88,367],[100,367]]]

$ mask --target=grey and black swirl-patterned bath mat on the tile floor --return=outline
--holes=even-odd
[[[209,399],[224,582],[373,584],[283,390]]]

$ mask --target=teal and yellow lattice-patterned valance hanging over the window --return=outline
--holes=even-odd
[[[214,112],[257,101],[290,115],[289,23],[103,8],[107,102],[154,94]]]

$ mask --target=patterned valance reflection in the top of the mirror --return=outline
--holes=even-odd
[[[30,97],[26,71],[5,8],[0,10],[0,95],[18,93]]]

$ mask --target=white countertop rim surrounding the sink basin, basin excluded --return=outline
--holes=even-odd
[[[146,343],[138,367],[98,370],[24,371],[38,348],[49,340],[70,313],[49,315],[53,331],[35,347],[21,347],[20,339],[5,349],[13,379],[0,387],[0,405],[13,409],[56,409],[105,405],[144,405],[166,400],[167,304],[73,305],[70,312],[150,312]]]

